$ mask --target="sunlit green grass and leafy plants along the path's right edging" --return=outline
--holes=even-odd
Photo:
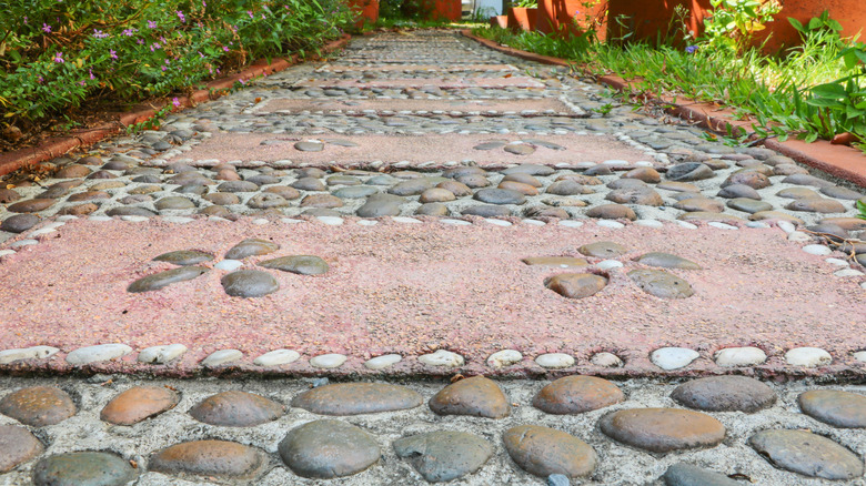
[[[583,73],[620,75],[635,82],[634,89],[641,93],[684,97],[734,109],[741,119],[753,122],[754,134],[761,136],[784,139],[792,133],[812,141],[849,131],[866,140],[866,126],[857,121],[856,108],[863,107],[866,98],[866,75],[859,74],[863,64],[848,65],[840,58],[850,42],[842,41],[835,32],[810,32],[802,47],[777,57],[757,49],[742,53],[715,49],[708,42],[698,42],[687,52],[667,44],[593,42],[590,34],[566,41],[501,28],[473,32],[515,49],[574,61]],[[849,77],[854,78],[845,94],[840,88],[826,88],[827,83],[844,87]],[[820,93],[835,98],[819,100]]]

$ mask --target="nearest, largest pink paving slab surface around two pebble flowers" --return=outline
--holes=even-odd
[[[63,352],[114,342],[137,350],[182,343],[190,351],[174,369],[192,369],[221,348],[243,351],[249,365],[263,352],[288,347],[308,357],[346,354],[352,357],[341,368],[346,373],[363,372],[361,363],[371,356],[441,347],[476,367],[503,348],[530,357],[572,353],[584,362],[593,352],[612,351],[640,366],[664,345],[711,356],[721,347],[757,345],[772,360],[808,345],[842,362],[866,347],[866,293],[857,279],[834,276],[833,265],[787,242],[777,229],[354,221],[342,226],[72,221],[0,261],[0,343]],[[261,298],[228,296],[220,270],[160,291],[125,291],[132,281],[172,267],[151,261],[163,252],[197,249],[219,257],[244,237],[282,246],[249,259],[245,267],[273,256],[313,254],[331,271],[320,276],[268,271],[281,288]],[[620,259],[625,269],[612,271],[608,285],[587,298],[564,298],[544,287],[545,277],[567,270],[521,263],[527,256],[577,255],[582,244],[605,240],[631,252]],[[692,284],[694,296],[659,300],[631,282],[625,271],[641,266],[632,259],[651,251],[704,266],[672,271]],[[113,366],[131,362],[134,354]]]

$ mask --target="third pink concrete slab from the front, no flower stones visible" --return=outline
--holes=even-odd
[[[452,112],[482,112],[496,111],[502,114],[505,111],[522,112],[524,110],[535,110],[537,114],[546,110],[553,110],[557,115],[574,115],[575,113],[562,101],[551,98],[537,100],[310,100],[310,99],[289,99],[273,98],[255,108],[258,113],[272,113],[275,111],[283,113],[298,113],[300,111],[324,111],[326,113],[341,111],[362,112],[363,110],[375,111],[446,111]],[[550,113],[546,113],[550,115]]]

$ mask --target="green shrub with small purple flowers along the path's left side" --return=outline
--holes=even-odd
[[[352,17],[339,0],[0,0],[0,108],[19,125],[314,52]]]

